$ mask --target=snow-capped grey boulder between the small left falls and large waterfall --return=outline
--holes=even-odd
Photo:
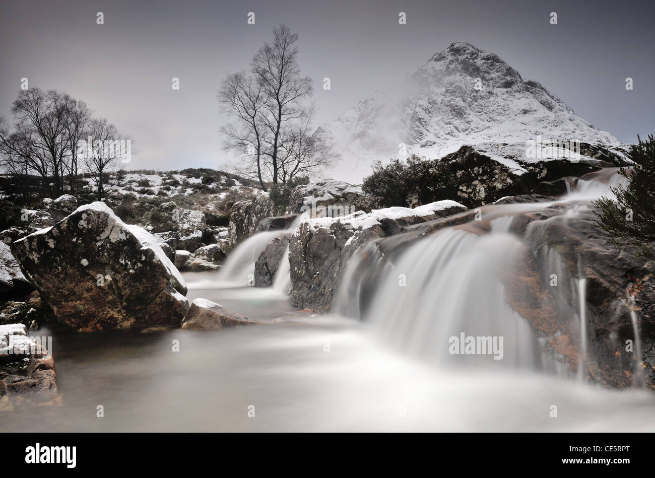
[[[399,234],[410,225],[465,210],[458,202],[444,200],[415,209],[358,211],[303,221],[289,243],[291,301],[301,308],[327,310],[354,251],[371,240]]]

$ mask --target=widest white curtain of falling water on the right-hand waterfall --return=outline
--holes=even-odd
[[[500,279],[522,250],[505,233],[446,229],[417,240],[384,269],[364,320],[394,346],[436,363],[533,368],[533,333],[507,304]],[[468,337],[486,340],[486,353],[460,354]],[[500,353],[491,354],[492,342]]]

